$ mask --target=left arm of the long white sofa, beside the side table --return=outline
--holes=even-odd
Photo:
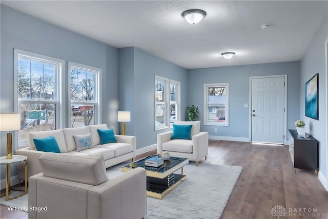
[[[39,157],[46,152],[30,150],[29,147],[16,150],[16,154],[27,156],[27,177],[42,172],[39,163]],[[19,180],[25,179],[25,162],[19,162],[17,165],[17,177]]]

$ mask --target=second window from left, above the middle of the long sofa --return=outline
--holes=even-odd
[[[71,127],[99,124],[101,69],[69,62]]]

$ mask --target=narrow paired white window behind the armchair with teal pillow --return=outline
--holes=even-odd
[[[155,76],[155,130],[172,127],[180,115],[180,82]]]

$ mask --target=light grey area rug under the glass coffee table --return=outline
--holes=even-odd
[[[109,178],[124,174],[119,164],[107,169]],[[153,218],[220,218],[226,207],[231,192],[242,171],[238,166],[211,164],[209,161],[194,162],[183,168],[187,180],[163,197],[162,200],[147,197],[147,215],[145,219]],[[180,173],[178,171],[177,173]],[[28,194],[15,200],[5,201],[2,205],[28,208]]]

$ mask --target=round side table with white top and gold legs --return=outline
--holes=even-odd
[[[15,191],[24,191],[23,194],[17,195],[15,197],[9,197],[10,193],[10,165],[19,163],[19,162],[24,162],[25,161],[25,188],[24,190],[22,189],[12,189]],[[23,155],[12,155],[12,159],[7,159],[6,156],[0,157],[0,164],[1,165],[7,165],[7,173],[6,173],[6,201],[12,200],[14,198],[23,196],[27,193],[27,156]]]

